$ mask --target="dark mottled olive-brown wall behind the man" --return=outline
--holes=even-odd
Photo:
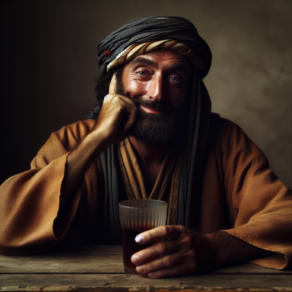
[[[291,1],[1,1],[1,181],[30,168],[53,131],[95,103],[97,46],[142,16],[192,21],[213,53],[212,111],[292,187]]]

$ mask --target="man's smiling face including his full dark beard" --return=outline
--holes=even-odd
[[[129,135],[161,144],[171,139],[184,120],[190,60],[170,50],[156,50],[126,63],[122,92],[138,108]]]

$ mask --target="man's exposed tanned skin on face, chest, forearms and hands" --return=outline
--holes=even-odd
[[[109,145],[126,138],[138,111],[161,114],[142,106],[137,109],[132,99],[143,96],[157,102],[165,100],[178,107],[187,96],[190,72],[190,61],[174,51],[157,50],[138,56],[125,64],[122,77],[124,90],[131,98],[115,94],[114,74],[107,101],[102,106],[95,128],[68,155],[62,201],[77,187],[98,155]],[[128,119],[121,126],[123,114],[128,115]],[[129,140],[149,192],[158,177],[166,145],[141,142],[133,136]],[[161,241],[162,239],[168,240]],[[252,246],[227,232],[198,234],[180,225],[160,226],[142,232],[136,241],[139,244],[157,242],[131,258],[132,263],[137,265],[137,272],[150,278],[195,274],[225,263],[249,261],[271,254],[270,251]]]

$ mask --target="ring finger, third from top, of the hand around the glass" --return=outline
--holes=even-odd
[[[185,263],[189,260],[190,255],[185,251],[168,253],[165,256],[151,260],[143,265],[137,265],[136,270],[140,274],[150,273],[157,270],[165,270],[174,265]]]

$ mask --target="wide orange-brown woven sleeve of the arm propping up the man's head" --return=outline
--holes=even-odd
[[[48,246],[46,243],[64,235],[76,212],[82,187],[80,183],[59,208],[67,155],[91,131],[93,123],[79,121],[52,133],[33,159],[31,169],[1,185],[1,253],[18,253],[19,248],[25,250],[27,246]],[[62,227],[55,232],[57,216],[62,217]]]

